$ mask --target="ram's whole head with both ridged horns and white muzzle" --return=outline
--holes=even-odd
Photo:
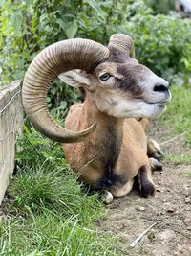
[[[85,72],[62,75],[72,69]],[[33,59],[24,79],[23,104],[33,126],[58,142],[81,141],[96,124],[74,132],[53,122],[46,96],[57,76],[83,87],[100,111],[119,118],[159,116],[171,97],[168,82],[138,64],[128,35],[112,35],[108,47],[78,38],[54,43]]]

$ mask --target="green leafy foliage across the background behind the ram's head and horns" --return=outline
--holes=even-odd
[[[0,84],[23,78],[37,52],[55,41],[87,37],[107,44],[113,33],[126,33],[141,63],[181,85],[191,71],[190,26],[173,12],[153,15],[142,0],[2,0]],[[77,99],[74,90],[54,82],[48,102],[57,107],[62,101],[65,112]]]

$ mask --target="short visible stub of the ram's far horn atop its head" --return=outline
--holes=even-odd
[[[125,34],[114,34],[110,37],[109,47],[114,46],[125,51],[131,58],[135,58],[135,49],[132,38]]]

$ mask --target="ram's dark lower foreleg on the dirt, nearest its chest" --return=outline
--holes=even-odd
[[[146,166],[141,166],[139,169],[140,192],[144,198],[153,197],[155,195],[155,186],[148,179]]]

